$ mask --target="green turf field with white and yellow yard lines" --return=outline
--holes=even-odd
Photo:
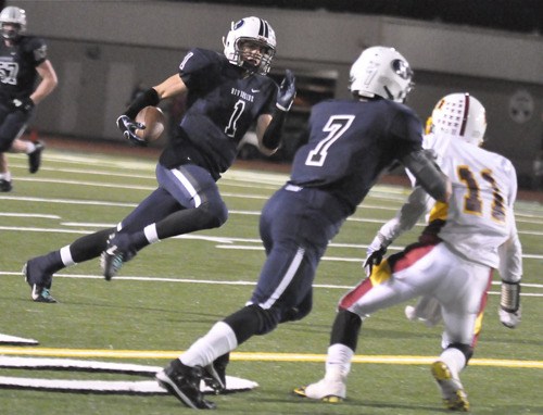
[[[39,174],[26,156],[10,155],[14,190],[0,193],[0,334],[39,345],[0,344],[0,357],[54,357],[164,366],[250,297],[264,252],[258,214],[286,175],[233,168],[219,180],[230,210],[226,225],[166,240],[141,251],[111,282],[98,259],[54,278],[59,304],[34,303],[21,268],[28,257],[115,225],[155,187],[154,161],[48,150]],[[228,374],[258,383],[252,391],[211,397],[228,414],[446,413],[429,362],[440,353],[440,326],[404,317],[404,305],[366,320],[341,404],[307,402],[291,390],[324,374],[334,307],[362,278],[361,262],[380,225],[407,189],[377,186],[330,244],[315,280],[313,313],[255,337],[232,354]],[[497,317],[498,282],[491,289],[483,332],[463,373],[473,414],[543,414],[543,206],[517,203],[523,246],[522,324]],[[414,241],[421,227],[389,252]],[[146,380],[141,376],[76,370],[0,368],[1,377]],[[149,415],[187,413],[165,394],[100,394],[0,389],[0,414]]]

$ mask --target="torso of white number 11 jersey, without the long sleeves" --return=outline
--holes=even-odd
[[[453,185],[451,199],[446,204],[435,203],[429,222],[445,221],[438,236],[453,252],[498,268],[498,248],[517,238],[515,167],[506,158],[454,136],[431,135],[426,141],[435,149],[438,163]]]

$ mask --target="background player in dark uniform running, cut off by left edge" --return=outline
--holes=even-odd
[[[23,35],[26,13],[10,5],[0,13],[0,191],[12,189],[4,152],[28,154],[30,173],[41,163],[43,143],[22,140],[37,103],[56,87],[58,79],[47,59],[43,39]],[[40,81],[36,85],[37,80]]]

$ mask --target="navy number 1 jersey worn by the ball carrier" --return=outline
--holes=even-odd
[[[218,177],[233,163],[238,142],[256,118],[274,111],[277,85],[263,75],[244,76],[224,55],[198,48],[180,63],[179,76],[188,88],[187,112],[161,163],[172,168],[190,156]]]

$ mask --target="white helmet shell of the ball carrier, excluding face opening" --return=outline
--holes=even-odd
[[[240,42],[244,40],[261,43],[265,49],[261,63],[256,67],[241,56]],[[225,46],[225,56],[230,63],[244,67],[252,73],[257,72],[266,75],[269,72],[277,43],[275,32],[265,20],[251,16],[243,17],[239,22],[232,22],[230,32],[228,32],[226,38],[223,38],[223,43]]]

